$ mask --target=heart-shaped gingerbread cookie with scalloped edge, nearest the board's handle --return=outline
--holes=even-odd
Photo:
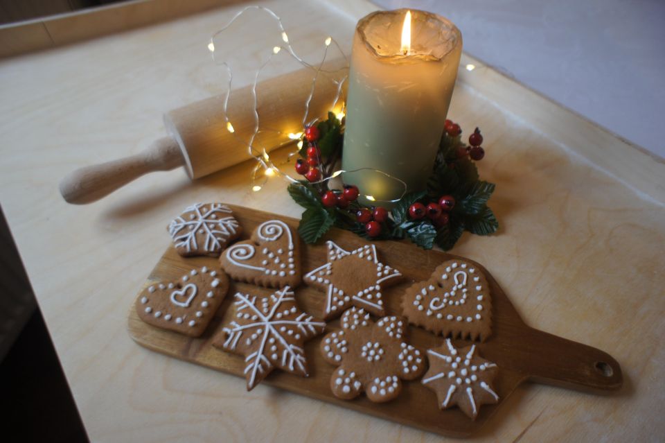
[[[427,281],[408,288],[402,313],[428,331],[484,341],[492,332],[490,288],[481,270],[461,259],[445,261]]]

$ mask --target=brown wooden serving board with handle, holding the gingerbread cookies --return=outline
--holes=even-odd
[[[229,206],[245,229],[243,238],[249,238],[254,228],[263,221],[271,219],[283,220],[294,233],[296,232],[298,220],[294,218]],[[335,241],[346,250],[355,249],[364,243],[362,238],[342,229],[332,229],[326,235],[326,239]],[[326,262],[327,248],[323,241],[318,245],[302,244],[302,246],[301,263],[304,275]],[[402,283],[382,291],[388,315],[401,315],[400,299],[407,287],[415,281],[428,279],[436,266],[455,257],[434,250],[421,250],[406,241],[381,241],[376,243],[376,246],[380,261],[397,268],[405,276]],[[310,370],[308,378],[274,370],[262,383],[394,422],[457,437],[468,436],[480,428],[497,408],[502,406],[502,402],[511,395],[517,385],[524,381],[536,381],[596,393],[611,392],[621,388],[623,382],[621,367],[612,356],[593,347],[527,326],[488,270],[479,263],[475,264],[486,273],[493,304],[493,334],[486,342],[478,344],[477,349],[479,354],[499,367],[495,390],[500,397],[499,403],[482,406],[475,421],[458,408],[439,410],[436,395],[425,388],[419,380],[405,381],[400,396],[388,403],[373,403],[364,395],[352,401],[337,399],[332,395],[329,386],[330,375],[335,367],[323,361],[319,352],[319,342],[323,336],[318,336],[305,344],[305,355]],[[173,247],[169,247],[150,273],[145,286],[156,281],[179,279],[189,270],[201,266],[218,268],[218,259],[183,258]],[[139,319],[132,304],[128,318],[130,336],[139,345],[148,349],[240,376],[243,381],[239,380],[238,385],[245,386],[244,359],[213,347],[211,340],[215,331],[229,320],[233,309],[227,308],[237,291],[257,295],[269,295],[274,292],[251,284],[232,282],[217,315],[199,338],[190,338],[144,323]],[[296,288],[295,294],[296,302],[303,311],[323,318],[325,299],[323,292],[303,283]],[[339,329],[339,320],[328,322],[326,332],[335,329]],[[441,345],[443,338],[409,325],[409,342],[420,349],[427,349]],[[454,342],[458,346],[468,343],[465,340],[454,340]]]

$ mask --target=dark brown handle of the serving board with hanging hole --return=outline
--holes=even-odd
[[[522,361],[522,370],[532,381],[600,394],[623,385],[621,366],[600,349],[533,328],[523,339],[529,358]]]

